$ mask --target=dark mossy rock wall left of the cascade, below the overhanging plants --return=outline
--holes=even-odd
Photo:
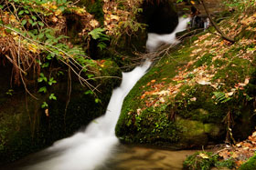
[[[90,82],[98,85],[95,94],[80,85],[75,75],[71,75],[71,84],[67,84],[68,74],[63,71],[58,83],[48,88],[48,94],[33,93],[38,100],[26,95],[24,87],[9,91],[11,67],[1,66],[0,77],[4,85],[0,90],[0,164],[15,161],[72,135],[105,113],[112,89],[120,84],[122,74],[112,61],[98,63],[94,74],[102,78]],[[30,90],[35,91],[32,87]],[[48,99],[51,93],[57,96],[56,101]],[[48,108],[41,108],[43,102],[48,103]]]

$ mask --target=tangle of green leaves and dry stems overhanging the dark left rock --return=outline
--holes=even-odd
[[[40,86],[38,93],[47,94],[48,88],[57,84],[57,77],[64,74],[63,70],[54,68],[55,62],[66,65],[92,93],[96,90],[89,81],[95,79],[91,68],[97,64],[80,45],[69,44],[69,37],[65,35],[64,14],[67,13],[86,11],[67,0],[5,0],[0,5],[0,53],[14,65],[16,84],[22,82],[35,99],[27,87],[27,75],[34,71]],[[100,40],[109,40],[108,36],[100,35]],[[99,47],[104,48],[105,44],[100,41]],[[57,98],[54,93],[48,95],[49,100]],[[41,107],[47,108],[48,103],[43,102]]]

